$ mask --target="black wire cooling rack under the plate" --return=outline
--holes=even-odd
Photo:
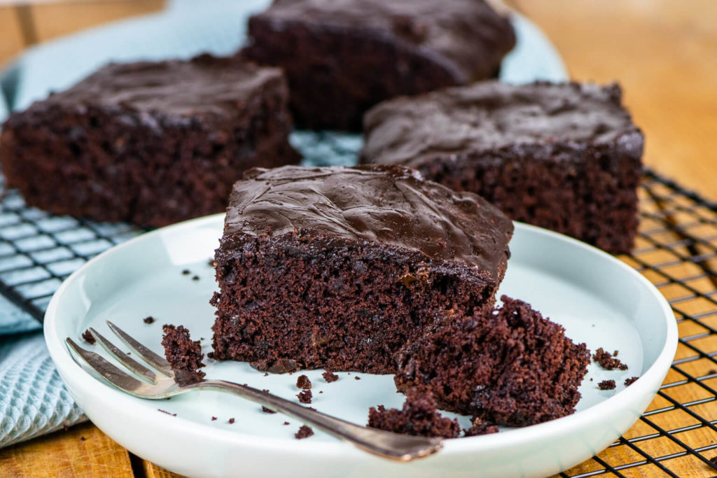
[[[336,153],[343,139],[318,142],[330,143]],[[348,162],[355,145],[346,146]],[[673,307],[680,331],[675,361],[625,436],[561,477],[678,477],[685,470],[688,476],[717,476],[709,461],[717,456],[717,204],[646,171],[640,215],[635,249],[621,258]],[[62,279],[141,232],[126,224],[53,216],[7,191],[0,201],[0,293],[42,320]]]

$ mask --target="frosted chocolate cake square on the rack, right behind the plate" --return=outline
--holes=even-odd
[[[377,105],[362,161],[472,191],[516,221],[629,252],[642,132],[617,85],[482,82]]]

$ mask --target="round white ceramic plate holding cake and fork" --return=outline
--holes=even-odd
[[[120,445],[174,472],[295,478],[546,476],[592,457],[626,431],[650,403],[675,354],[677,328],[670,307],[640,274],[574,239],[517,224],[500,293],[531,302],[590,349],[619,350],[629,366],[622,372],[591,365],[578,411],[562,419],[447,440],[438,454],[399,464],[320,432],[298,441],[293,438],[297,421],[263,414],[254,403],[222,393],[194,392],[171,401],[134,398],[75,363],[65,338],[77,340],[89,326],[111,337],[106,319],[160,353],[161,326],[186,325],[195,339],[204,338],[209,351],[213,309],[208,302],[215,284],[207,261],[217,247],[222,219],[209,216],[169,226],[101,254],[65,281],[44,322],[57,370],[87,416]],[[184,269],[191,274],[182,274]],[[192,279],[195,274],[199,280]],[[148,315],[156,322],[146,325]],[[246,363],[208,361],[209,378],[296,399],[297,374],[265,377]],[[313,406],[320,411],[365,423],[369,406],[402,403],[391,376],[339,373],[339,381],[326,383],[320,373],[306,373],[313,382]],[[622,382],[630,376],[640,380],[625,388]],[[614,379],[617,389],[599,391],[597,383],[605,378]],[[465,418],[462,424],[467,425]]]

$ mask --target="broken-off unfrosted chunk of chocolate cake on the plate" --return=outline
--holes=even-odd
[[[526,426],[572,414],[590,363],[584,343],[521,300],[455,317],[407,343],[399,391],[429,392],[442,410]]]

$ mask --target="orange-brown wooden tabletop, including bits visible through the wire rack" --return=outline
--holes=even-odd
[[[39,41],[109,19],[156,9],[163,2],[128,0],[106,3],[114,5],[104,10],[85,2],[32,7]],[[717,200],[717,1],[511,0],[506,3],[543,28],[563,56],[574,79],[597,82],[619,80],[635,122],[645,130],[645,162],[648,165],[675,178],[683,186]],[[0,64],[24,45],[22,29],[17,21],[13,7],[0,7]],[[641,228],[647,230],[645,228],[650,226],[650,221],[643,221]],[[668,244],[679,240],[679,236],[667,232],[663,239]],[[641,239],[638,247],[646,246],[650,244]],[[645,254],[645,261],[657,264],[670,257],[668,252],[657,251]],[[633,266],[640,265],[632,259],[626,261]],[[677,277],[691,277],[700,272],[695,267],[695,264],[680,264],[671,273]],[[653,282],[665,282],[660,274],[647,271],[645,275]],[[695,279],[690,282],[690,287],[715,289],[708,279]],[[690,292],[674,284],[665,285],[660,290],[668,298],[681,297]],[[700,300],[686,300],[680,307],[684,313],[693,313],[702,312],[706,305]],[[717,327],[717,319],[714,322],[710,326]],[[680,335],[698,334],[702,330],[706,329],[694,321],[680,323]],[[717,350],[717,338],[708,336],[700,346]],[[692,355],[693,350],[680,345],[677,358],[690,358]],[[685,373],[693,376],[709,377],[714,373],[714,378],[708,378],[703,383],[717,386],[717,372],[709,360],[693,360],[681,366]],[[717,419],[717,406],[715,401],[710,401],[714,398],[710,388],[690,381],[680,382],[684,378],[678,371],[670,371],[665,383],[680,385],[669,388],[667,398],[655,398],[649,410],[659,411],[669,406],[670,398],[680,402],[706,400],[690,409],[708,419]],[[652,420],[665,430],[695,422],[693,417],[684,414],[674,410],[655,414]],[[639,421],[625,436],[642,436],[652,431],[651,426]],[[685,444],[694,447],[709,448],[717,441],[717,433],[706,426],[685,430],[679,436]],[[681,450],[675,441],[666,436],[641,441],[640,449],[655,456],[679,455]],[[705,451],[706,457],[713,455],[717,455],[717,451]],[[644,459],[627,445],[608,449],[599,457],[612,466]],[[688,455],[677,456],[665,463],[680,477],[711,477],[716,474],[703,462]],[[569,473],[602,468],[599,462],[589,460]],[[626,477],[664,476],[654,464],[625,469],[622,474]],[[176,476],[151,463],[131,460],[127,451],[90,424],[0,450],[0,475]]]

